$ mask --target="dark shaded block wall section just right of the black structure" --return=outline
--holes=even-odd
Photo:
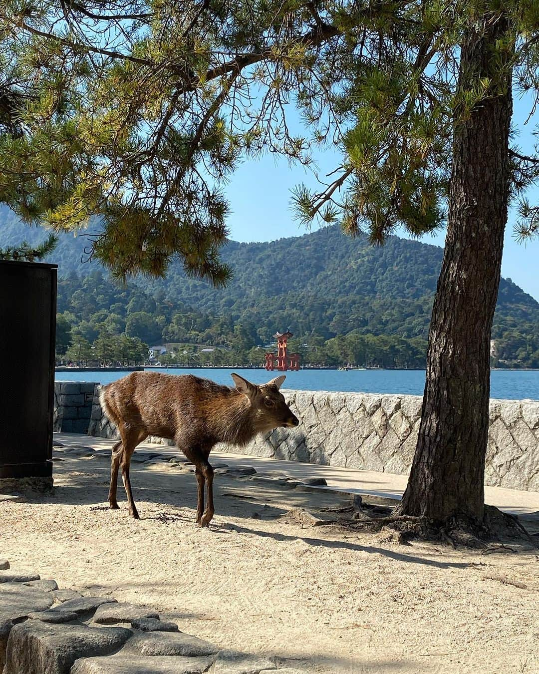
[[[55,381],[53,429],[57,433],[88,433],[94,381]]]

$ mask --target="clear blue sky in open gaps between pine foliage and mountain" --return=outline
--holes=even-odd
[[[523,152],[532,153],[534,120],[524,126],[530,111],[529,101],[515,100],[513,121],[520,131],[518,144]],[[538,117],[539,115],[536,115]],[[536,140],[536,139],[535,139]],[[319,173],[323,177],[338,164],[338,158],[330,154],[317,156]],[[284,159],[264,156],[258,161],[249,161],[239,166],[225,191],[230,200],[232,214],[228,218],[231,238],[235,241],[274,241],[281,237],[305,234],[306,230],[292,218],[290,212],[290,189],[298,183],[315,188],[317,183],[310,170],[303,166],[290,166]],[[539,189],[528,195],[531,202],[539,201]],[[539,241],[526,246],[517,243],[513,236],[514,212],[509,214],[505,233],[502,274],[512,278],[527,293],[539,300],[538,256]],[[422,239],[424,243],[443,246],[445,231],[434,237]]]

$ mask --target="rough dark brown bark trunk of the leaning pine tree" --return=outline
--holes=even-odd
[[[505,19],[490,16],[464,35],[459,90],[484,77],[493,78],[497,87],[455,126],[447,237],[429,332],[422,418],[398,508],[400,514],[439,524],[453,518],[480,524],[484,515],[490,330],[507,221],[512,113],[511,69],[496,73],[493,51],[506,30]]]

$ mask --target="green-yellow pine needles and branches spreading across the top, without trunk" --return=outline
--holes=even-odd
[[[100,216],[90,255],[115,276],[164,276],[179,259],[224,286],[223,186],[261,152],[313,164],[292,194],[301,222],[383,243],[445,221],[453,131],[497,92],[539,92],[536,3],[474,0],[5,0],[0,9],[0,201],[55,231]],[[478,18],[509,30],[493,76],[457,90]],[[508,57],[509,55],[509,57]],[[295,105],[305,121],[288,125]],[[530,115],[535,111],[535,106]],[[516,131],[516,130],[515,130]],[[526,190],[539,157],[511,148],[516,234],[539,233]],[[315,167],[313,166],[313,169]]]

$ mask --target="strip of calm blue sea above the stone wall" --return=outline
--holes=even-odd
[[[232,386],[231,372],[261,384],[279,373],[265,370],[228,370],[203,367],[200,369],[158,369],[174,375],[193,374],[207,377],[219,384]],[[124,377],[127,372],[57,372],[57,381],[110,381]],[[408,393],[422,395],[424,370],[300,370],[287,372],[283,388],[309,391],[358,391],[364,393]],[[490,397],[539,400],[539,371],[495,370],[490,377]]]

